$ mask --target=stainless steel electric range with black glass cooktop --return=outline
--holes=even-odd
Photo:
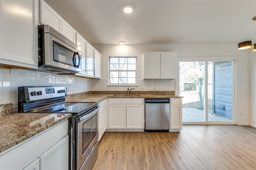
[[[72,113],[69,118],[69,169],[92,169],[98,157],[98,103],[65,102],[65,86],[18,88],[18,112]]]

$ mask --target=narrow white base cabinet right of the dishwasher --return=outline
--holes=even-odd
[[[182,129],[182,98],[170,98],[170,130]]]

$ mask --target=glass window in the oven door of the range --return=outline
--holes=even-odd
[[[97,135],[97,115],[94,115],[82,124],[82,154]]]

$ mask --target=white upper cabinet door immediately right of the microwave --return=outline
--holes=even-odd
[[[80,35],[78,32],[76,32],[76,44],[81,48],[82,57],[82,74],[86,74],[86,40],[82,35]]]

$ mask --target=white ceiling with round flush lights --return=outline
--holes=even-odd
[[[46,0],[95,44],[256,43],[256,0]],[[134,12],[125,14],[130,4]]]

